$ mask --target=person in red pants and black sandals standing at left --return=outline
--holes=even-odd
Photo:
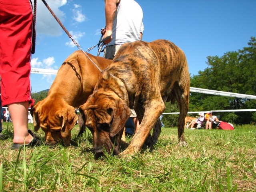
[[[24,143],[30,147],[40,144],[28,130],[28,106],[33,103],[30,83],[32,30],[31,0],[0,0],[1,98],[2,106],[7,105],[12,116],[12,150],[18,150]]]

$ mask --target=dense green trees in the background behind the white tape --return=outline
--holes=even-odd
[[[256,95],[256,38],[251,37],[248,46],[223,56],[208,56],[208,67],[190,76],[190,86],[232,93]],[[32,94],[36,103],[46,98],[48,91]],[[255,109],[256,100],[232,98],[210,94],[190,93],[189,111],[230,109]],[[178,112],[177,103],[166,103],[165,112]],[[217,113],[217,112],[216,112]],[[234,124],[254,124],[256,112],[220,112],[220,120]],[[195,114],[192,116],[196,116]],[[165,126],[177,126],[178,115],[164,115]]]

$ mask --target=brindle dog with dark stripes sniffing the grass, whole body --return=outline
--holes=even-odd
[[[93,94],[80,106],[79,124],[92,132],[96,156],[103,154],[103,148],[109,154],[119,154],[122,129],[130,108],[134,108],[140,128],[120,155],[134,154],[144,143],[151,146],[157,142],[164,102],[176,100],[180,108],[178,142],[186,145],[184,120],[189,91],[188,64],[180,48],[167,40],[127,43],[100,74]]]

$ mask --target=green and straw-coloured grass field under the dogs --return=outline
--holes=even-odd
[[[12,124],[3,127],[11,138],[0,140],[0,191],[256,191],[256,126],[185,130],[188,147],[177,145],[177,128],[162,128],[155,148],[131,159],[94,159],[91,134],[77,138],[78,126],[68,148],[12,151]]]

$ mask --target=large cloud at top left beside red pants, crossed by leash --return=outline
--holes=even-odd
[[[66,5],[67,0],[48,0],[47,4],[63,24],[65,13],[59,8]],[[42,1],[37,1],[36,4],[36,33],[49,36],[60,36],[62,34],[62,28]]]

